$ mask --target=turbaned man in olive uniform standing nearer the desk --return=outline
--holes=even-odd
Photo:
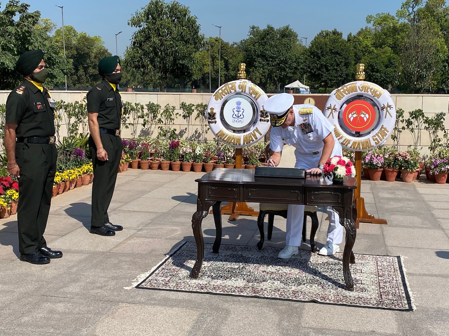
[[[90,233],[114,236],[123,230],[109,221],[108,208],[114,194],[120,159],[124,159],[120,138],[122,99],[117,85],[122,78],[119,56],[104,57],[98,63],[103,81],[87,93],[89,149],[93,163],[92,221]]]

